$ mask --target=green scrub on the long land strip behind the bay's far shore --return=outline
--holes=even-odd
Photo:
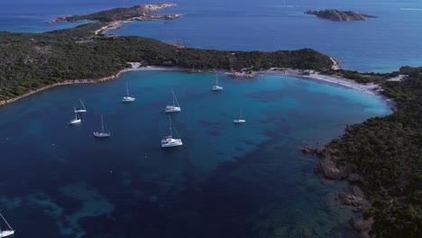
[[[329,69],[316,50],[219,51],[178,48],[142,37],[95,36],[105,23],[45,33],[0,32],[0,100],[66,79],[115,75],[127,62],[187,69]]]

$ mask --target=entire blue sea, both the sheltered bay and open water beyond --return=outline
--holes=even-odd
[[[415,24],[422,11],[400,9],[418,9],[416,1],[228,2],[176,1],[179,6],[166,12],[185,17],[128,23],[114,33],[221,50],[314,48],[359,70],[389,71],[420,59]],[[68,28],[75,23],[45,22],[144,3],[2,2],[0,31]],[[332,23],[301,14],[307,8],[380,17]],[[391,14],[400,18],[393,21]],[[211,91],[216,77],[221,92]],[[126,83],[136,97],[130,104],[122,103]],[[162,150],[171,88],[182,108],[171,114],[173,135],[184,144]],[[87,113],[82,124],[68,125],[79,98]],[[233,124],[241,111],[246,123]],[[100,85],[56,87],[0,108],[0,211],[15,237],[354,237],[347,223],[353,212],[335,198],[347,183],[316,176],[319,159],[298,149],[386,114],[390,105],[379,96],[281,75],[243,80],[132,71]],[[101,115],[111,138],[92,136]]]

